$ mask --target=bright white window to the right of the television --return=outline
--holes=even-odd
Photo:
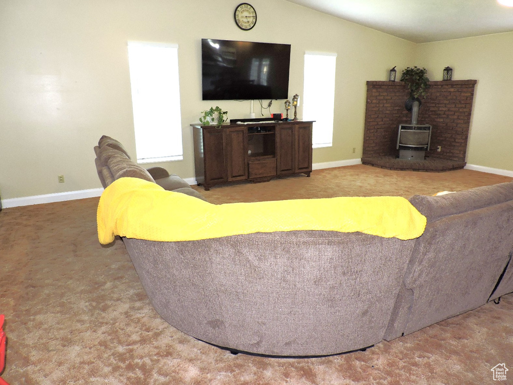
[[[303,120],[314,120],[312,147],[333,144],[336,53],[306,52]]]

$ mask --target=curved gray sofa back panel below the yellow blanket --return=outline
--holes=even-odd
[[[304,356],[382,340],[415,241],[295,231],[124,242],[175,328],[236,350]]]

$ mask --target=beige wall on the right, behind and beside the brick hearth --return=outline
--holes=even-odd
[[[430,80],[476,79],[467,163],[513,171],[513,32],[420,44],[417,62]]]

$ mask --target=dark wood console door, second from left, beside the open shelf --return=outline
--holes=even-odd
[[[248,131],[246,127],[226,128],[225,160],[228,181],[248,179]]]

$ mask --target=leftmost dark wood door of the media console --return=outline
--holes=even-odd
[[[203,128],[203,157],[205,185],[226,182],[223,130],[215,127]]]

